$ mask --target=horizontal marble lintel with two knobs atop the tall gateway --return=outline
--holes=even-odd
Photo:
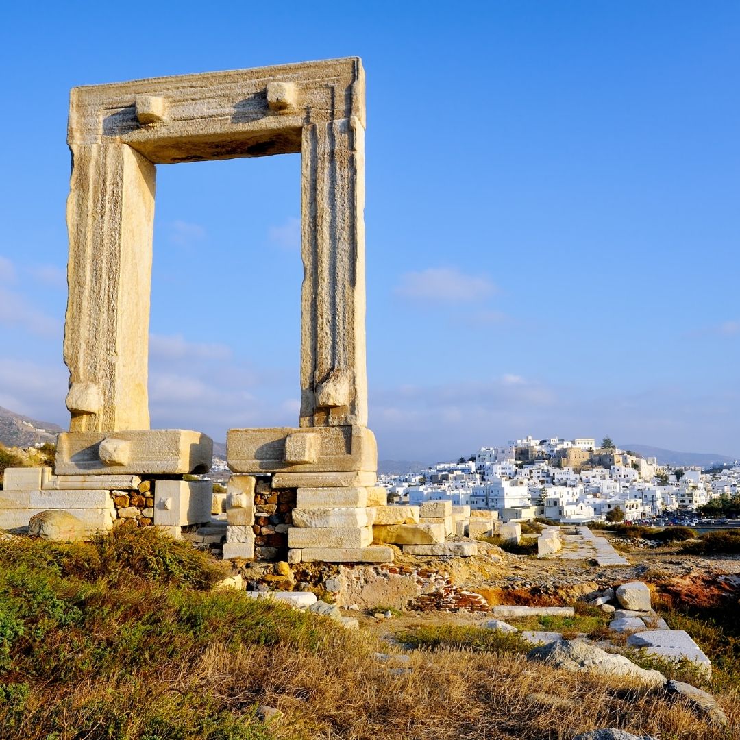
[[[155,164],[260,157],[300,152],[306,124],[350,116],[365,125],[357,57],[75,87],[68,142],[128,144]]]

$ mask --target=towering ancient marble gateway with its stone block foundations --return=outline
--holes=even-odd
[[[386,491],[375,486],[364,131],[359,58],[72,90],[64,337],[70,431],[58,436],[53,472],[9,471],[4,526],[57,509],[88,532],[127,522],[179,536],[183,527],[208,524],[211,485],[192,478],[209,471],[212,440],[149,428],[156,166],[300,152],[300,419],[295,428],[228,431],[233,474],[223,502],[223,556],[388,562],[392,549],[372,542],[423,550],[455,534],[449,504],[421,513],[388,507]]]

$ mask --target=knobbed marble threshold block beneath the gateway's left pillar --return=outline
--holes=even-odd
[[[128,443],[124,465],[100,459],[107,440]],[[115,432],[63,432],[57,437],[54,471],[62,475],[206,473],[213,460],[213,442],[199,431],[147,429]],[[210,499],[209,499],[210,500]]]

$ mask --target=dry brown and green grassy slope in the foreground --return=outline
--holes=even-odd
[[[0,737],[555,740],[610,726],[731,736],[660,694],[528,662],[488,630],[419,639],[426,649],[407,662],[381,662],[377,651],[401,650],[369,631],[214,591],[224,567],[147,529],[84,545],[0,541]],[[736,694],[721,702],[738,721]],[[259,704],[284,721],[263,724]]]

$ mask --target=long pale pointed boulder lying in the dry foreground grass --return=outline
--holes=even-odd
[[[559,640],[527,653],[531,660],[548,662],[556,668],[596,673],[639,681],[654,687],[665,686],[665,676],[658,670],[645,670],[623,655],[613,655],[582,640]]]

